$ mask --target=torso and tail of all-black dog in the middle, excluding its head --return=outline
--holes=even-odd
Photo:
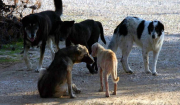
[[[106,44],[102,24],[98,21],[88,19],[74,24],[73,36],[70,36],[70,39],[75,44],[84,44],[86,42],[92,45],[98,42],[99,35],[101,35],[101,40]]]

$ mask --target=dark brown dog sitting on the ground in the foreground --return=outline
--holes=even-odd
[[[83,45],[70,46],[58,50],[55,58],[47,70],[40,71],[38,81],[38,90],[42,98],[61,97],[67,90],[71,98],[75,95],[72,93],[72,88],[79,93],[75,85],[72,85],[71,70],[73,64],[86,62],[93,63],[88,49]],[[42,73],[42,74],[41,74]]]

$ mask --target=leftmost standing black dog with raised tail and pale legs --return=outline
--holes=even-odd
[[[54,58],[54,50],[52,48],[52,41],[59,49],[59,40],[65,40],[66,34],[62,33],[62,27],[71,27],[73,22],[62,22],[60,15],[62,14],[62,0],[54,0],[55,11],[43,11],[36,14],[30,14],[22,19],[24,28],[24,60],[28,67],[31,69],[31,64],[27,57],[27,52],[30,47],[40,46],[40,60],[39,66],[36,71],[42,68],[42,60],[44,57],[45,46],[48,43]],[[68,26],[69,25],[69,26]]]

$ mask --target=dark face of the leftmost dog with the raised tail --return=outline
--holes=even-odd
[[[34,42],[37,37],[37,31],[39,30],[39,21],[35,15],[28,15],[22,19],[23,28],[27,39]]]

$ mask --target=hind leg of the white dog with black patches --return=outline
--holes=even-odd
[[[127,40],[125,40],[127,41]],[[131,52],[132,46],[133,46],[133,41],[129,40],[127,42],[122,42],[123,45],[121,46],[121,50],[122,50],[122,59],[121,59],[121,63],[123,66],[123,69],[126,73],[130,73],[132,74],[133,71],[131,70],[131,68],[128,65],[128,57],[129,57],[129,53]]]

